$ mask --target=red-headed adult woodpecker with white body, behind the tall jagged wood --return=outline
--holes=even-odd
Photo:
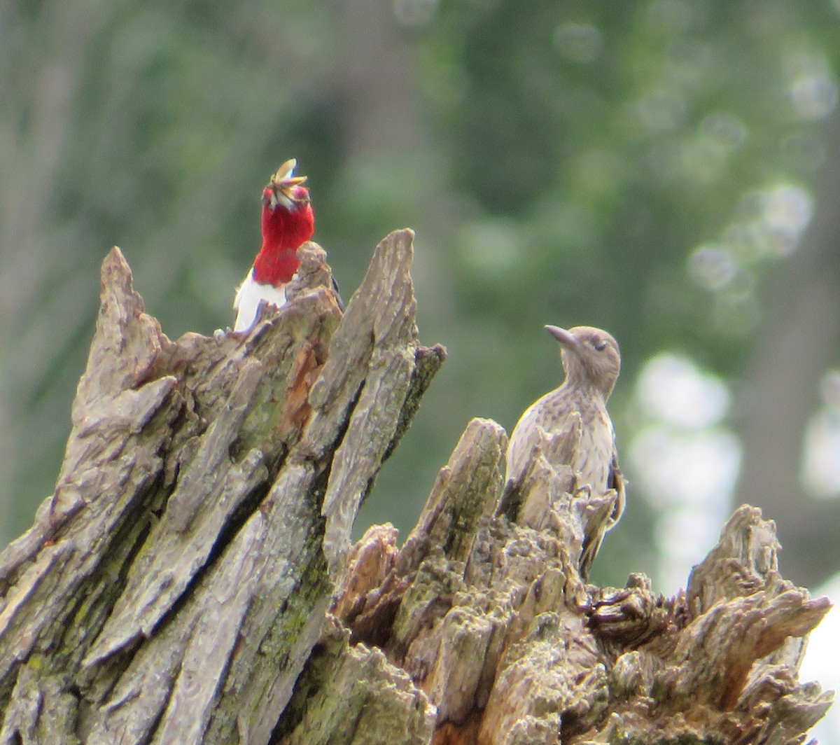
[[[281,307],[286,285],[300,266],[297,249],[315,232],[315,215],[306,176],[295,176],[292,158],[271,176],[262,193],[262,245],[254,265],[236,291],[234,331],[247,331],[254,324],[260,302]]]

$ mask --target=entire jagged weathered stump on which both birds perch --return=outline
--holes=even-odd
[[[829,603],[752,507],[675,598],[586,585],[615,495],[539,450],[502,495],[507,436],[476,419],[403,548],[375,526],[347,553],[444,359],[411,256],[391,233],[342,317],[309,244],[281,312],[173,343],[109,254],[55,494],[0,555],[0,745],[804,741]]]

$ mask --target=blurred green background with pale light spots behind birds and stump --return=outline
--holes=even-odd
[[[3,0],[0,39],[0,545],[54,485],[108,249],[172,338],[228,325],[295,156],[345,299],[415,228],[449,349],[359,531],[404,537],[471,417],[559,383],[543,324],[585,323],[630,480],[594,580],[673,593],[743,501],[785,576],[840,571],[840,0]]]

